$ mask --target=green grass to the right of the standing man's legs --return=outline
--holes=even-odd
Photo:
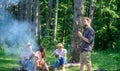
[[[103,68],[107,71],[120,71],[120,54],[114,52],[93,52],[93,69]]]

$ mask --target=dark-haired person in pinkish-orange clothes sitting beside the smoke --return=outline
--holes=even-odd
[[[49,71],[49,68],[45,62],[45,47],[40,47],[38,51],[33,52],[34,56],[37,57],[37,66],[40,69],[46,69],[46,71]]]

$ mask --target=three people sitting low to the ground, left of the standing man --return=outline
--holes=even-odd
[[[56,62],[55,62],[55,71],[57,71],[59,65],[64,65],[65,63],[67,63],[66,60],[66,54],[67,54],[67,50],[64,49],[63,44],[59,43],[58,48],[51,54],[51,56],[56,56]],[[37,58],[36,60],[36,64],[37,67],[39,68],[44,68],[46,71],[49,71],[49,68],[47,66],[47,63],[45,62],[45,47],[40,46],[38,51],[34,52],[32,50],[32,45],[30,43],[28,43],[28,45],[25,47],[22,55],[21,55],[21,64],[23,69],[25,69],[25,65],[26,65],[26,60],[30,59],[32,56],[35,56]],[[30,67],[31,68],[31,67]],[[64,68],[63,68],[64,71]]]

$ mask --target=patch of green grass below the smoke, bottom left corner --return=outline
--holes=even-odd
[[[13,71],[13,67],[18,67],[18,58],[4,55],[0,48],[0,71]]]

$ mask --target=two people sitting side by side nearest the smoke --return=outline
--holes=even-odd
[[[32,57],[35,56],[34,60],[32,60]],[[45,62],[45,47],[40,46],[36,52],[32,50],[32,44],[28,43],[27,46],[24,48],[23,53],[20,56],[21,58],[21,64],[22,64],[22,70],[27,71],[36,71],[34,66],[37,66],[36,68],[44,68],[46,71],[49,71],[49,68]],[[27,61],[31,61],[27,64]],[[35,62],[34,62],[35,61]],[[27,66],[32,65],[30,69],[26,69]]]

